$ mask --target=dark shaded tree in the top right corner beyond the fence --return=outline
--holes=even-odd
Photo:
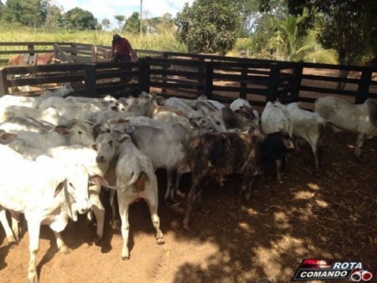
[[[269,10],[270,1],[261,0],[261,8]],[[340,64],[357,64],[376,45],[375,0],[288,0],[288,10],[303,16],[304,27],[313,27],[320,14],[318,39],[323,47],[337,50]]]

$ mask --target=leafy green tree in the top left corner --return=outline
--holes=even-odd
[[[40,27],[47,15],[47,0],[8,0],[3,8],[3,20]]]

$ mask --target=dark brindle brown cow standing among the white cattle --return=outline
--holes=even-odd
[[[188,194],[184,228],[188,230],[193,203],[202,193],[207,177],[216,177],[222,184],[226,175],[244,175],[239,198],[248,201],[254,177],[260,175],[276,159],[283,159],[293,149],[285,131],[264,135],[250,128],[242,133],[206,133],[193,138],[188,145],[188,166],[191,168],[192,187]]]

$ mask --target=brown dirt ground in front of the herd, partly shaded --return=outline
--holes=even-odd
[[[320,172],[309,145],[302,145],[290,154],[283,183],[271,170],[245,205],[237,203],[239,176],[230,176],[223,189],[209,181],[203,192],[209,213],[195,210],[190,232],[182,228],[184,201],[176,208],[161,202],[163,246],[154,239],[147,205],[134,203],[128,261],[121,259],[122,238],[109,225],[110,212],[98,245],[96,227],[85,217],[68,223],[63,237],[70,254],[57,251],[43,226],[40,282],[290,282],[302,259],[313,257],[377,268],[377,139],[367,140],[360,160],[353,157],[355,141],[353,133],[326,129]],[[160,196],[164,173],[157,172]],[[181,186],[189,189],[189,175]],[[10,246],[0,228],[0,282],[27,281],[28,247],[27,231]]]

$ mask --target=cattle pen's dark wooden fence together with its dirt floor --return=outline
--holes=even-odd
[[[11,55],[46,52],[54,52],[62,62],[5,65]],[[377,99],[376,67],[136,52],[138,62],[111,63],[108,46],[0,43],[0,96],[10,92],[38,96],[71,82],[72,96],[119,98],[145,91],[166,98],[195,99],[205,94],[223,103],[241,97],[259,112],[266,101],[276,99],[298,101],[309,110],[313,101],[329,94],[352,103]],[[346,78],[340,78],[339,71],[347,71]],[[130,76],[133,79],[128,82]],[[346,86],[339,89],[339,82]],[[31,92],[14,90],[25,85],[31,86]],[[150,140],[156,150],[154,142]],[[110,204],[104,203],[103,239],[95,242],[96,226],[86,215],[79,215],[61,233],[69,254],[58,252],[52,230],[41,227],[36,261],[40,282],[286,283],[303,259],[362,261],[377,270],[377,139],[365,141],[360,159],[353,157],[354,144],[355,134],[326,129],[318,172],[309,144],[304,144],[300,152],[290,155],[283,182],[276,182],[274,170],[269,170],[255,181],[248,203],[237,201],[237,189],[242,186],[239,175],[230,175],[223,188],[208,180],[202,193],[206,211],[195,208],[191,231],[182,228],[185,200],[172,206],[163,203],[168,182],[166,170],[159,168],[158,215],[165,245],[156,245],[147,203],[133,203],[131,258],[121,260],[121,233],[110,225]],[[18,171],[15,178],[22,177]],[[190,175],[185,174],[181,189],[186,194],[190,183]],[[103,194],[109,192],[103,190]],[[23,224],[17,245],[9,245],[0,225],[0,282],[27,281],[29,232]]]

